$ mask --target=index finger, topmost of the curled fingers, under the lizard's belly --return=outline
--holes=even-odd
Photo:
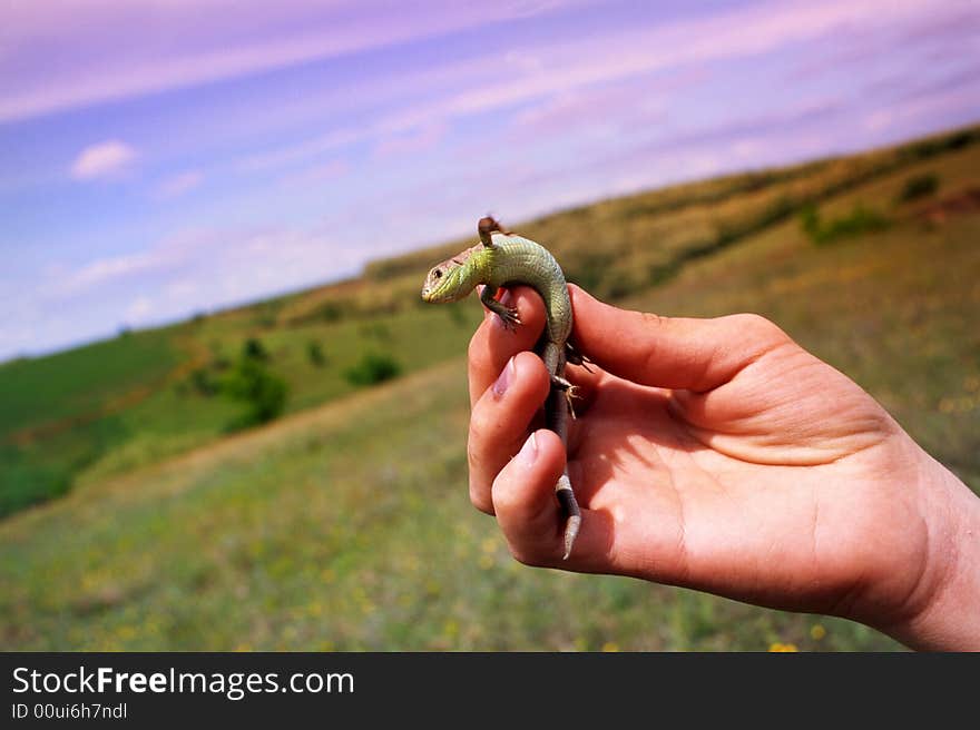
[[[504,327],[500,317],[487,312],[470,339],[468,369],[471,405],[480,399],[511,357],[535,347],[545,329],[545,303],[531,287],[508,288],[501,302],[517,307],[521,324],[516,332],[511,332]]]

